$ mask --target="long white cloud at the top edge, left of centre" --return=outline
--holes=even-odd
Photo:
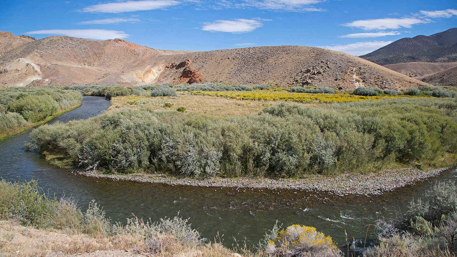
[[[85,12],[107,12],[119,13],[137,10],[155,10],[167,6],[178,5],[179,2],[175,0],[141,0],[141,1],[127,1],[118,3],[108,3],[99,5],[90,5],[83,9]]]

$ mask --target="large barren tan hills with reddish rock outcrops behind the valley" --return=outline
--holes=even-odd
[[[223,82],[399,89],[425,85],[362,58],[317,47],[198,52],[158,50],[122,39],[54,36],[26,40],[5,48],[0,56],[1,86]]]

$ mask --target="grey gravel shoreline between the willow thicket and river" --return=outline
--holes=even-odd
[[[96,171],[71,170],[72,173],[94,178],[127,180],[136,182],[162,183],[169,185],[185,185],[194,187],[233,187],[255,189],[293,189],[301,191],[323,191],[344,196],[348,194],[380,195],[384,192],[421,180],[435,177],[448,168],[419,170],[412,168],[390,169],[377,173],[340,174],[335,177],[309,175],[308,178],[179,178],[166,174],[104,174]]]

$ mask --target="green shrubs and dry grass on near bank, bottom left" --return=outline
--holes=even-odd
[[[70,235],[82,233],[101,239],[98,242],[104,242],[104,246],[100,246],[103,250],[134,248],[160,256],[175,256],[195,249],[209,256],[226,256],[230,252],[221,244],[205,243],[188,219],[181,218],[179,213],[174,218],[161,218],[157,222],[133,215],[125,225],[113,223],[95,200],[87,210],[81,210],[74,199],[49,197],[37,186],[37,181],[11,183],[0,180],[0,220],[15,220],[23,226]],[[5,245],[0,249],[2,247]]]

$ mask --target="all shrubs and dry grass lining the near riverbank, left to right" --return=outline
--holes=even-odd
[[[410,203],[405,216],[397,220],[378,220],[379,237],[374,247],[363,247],[363,256],[455,257],[456,190],[454,183],[435,184],[424,200]],[[116,249],[147,256],[197,254],[208,257],[230,256],[233,252],[244,257],[343,257],[343,252],[346,252],[346,247],[340,246],[338,249],[330,236],[311,226],[292,225],[281,230],[276,222],[257,246],[249,248],[237,245],[230,249],[220,241],[203,239],[187,219],[179,216],[152,222],[133,215],[124,224],[113,223],[94,200],[87,210],[81,210],[74,199],[49,197],[37,187],[36,181],[11,183],[0,180],[0,220],[12,220],[28,227],[18,229],[12,223],[3,226],[4,222],[0,222],[0,231],[3,233],[0,251],[15,256],[40,255],[45,250],[47,254],[81,254]],[[48,247],[51,252],[48,248],[40,249],[44,236],[38,237],[40,231],[32,228],[41,229],[42,233],[53,231],[54,241],[45,242],[51,244]],[[58,238],[58,233],[62,234],[61,238]],[[27,245],[26,242],[22,246],[23,242],[14,241],[16,236],[23,235],[30,237],[30,240],[37,237],[42,243]],[[74,240],[74,236],[79,236],[78,240]],[[348,256],[354,254],[349,250],[348,253]]]

